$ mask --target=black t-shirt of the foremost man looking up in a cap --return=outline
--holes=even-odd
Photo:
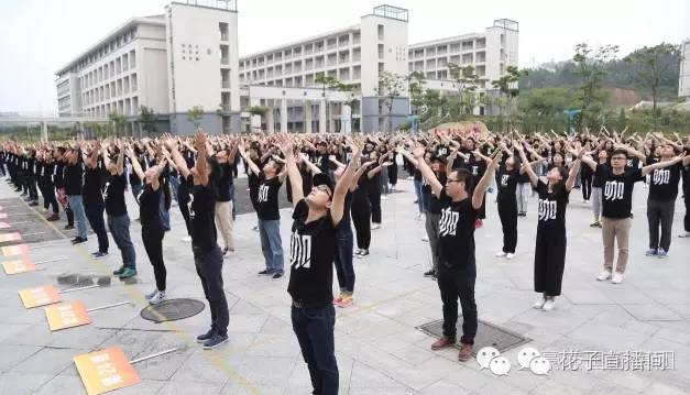
[[[293,212],[289,239],[289,284],[287,292],[300,303],[331,303],[333,300],[333,261],[336,259],[336,227],[326,216],[305,223],[309,215],[307,201],[302,199]]]

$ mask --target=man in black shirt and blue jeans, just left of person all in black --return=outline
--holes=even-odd
[[[72,243],[79,244],[87,241],[86,212],[84,211],[84,199],[81,197],[84,179],[81,149],[78,145],[70,147],[65,153],[65,156],[67,158],[65,165],[65,194],[69,201],[69,208],[77,218],[77,237],[72,240]]]

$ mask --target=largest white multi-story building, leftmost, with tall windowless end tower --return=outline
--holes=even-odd
[[[200,127],[240,127],[236,0],[172,2],[165,14],[133,18],[57,73],[61,116],[129,119],[141,132],[140,108],[158,116],[160,131],[193,130],[187,111],[204,109]]]

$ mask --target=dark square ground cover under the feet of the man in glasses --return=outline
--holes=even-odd
[[[462,334],[462,317],[458,317],[458,325],[456,327],[458,328],[458,343],[456,344],[456,348],[460,348],[460,336]],[[435,338],[440,338],[443,333],[443,320],[441,319],[438,321],[431,321],[417,327],[417,329]],[[529,341],[532,341],[532,339],[524,338],[510,330],[505,330],[493,323],[480,320],[479,327],[477,328],[477,336],[474,337],[474,347],[472,348],[472,353],[477,354],[477,351],[481,350],[484,347],[493,347],[501,352],[505,352],[521,344],[525,344]]]

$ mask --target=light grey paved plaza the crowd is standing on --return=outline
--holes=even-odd
[[[474,359],[459,363],[457,350],[431,351],[435,339],[417,328],[440,319],[441,306],[437,285],[421,275],[429,268],[430,256],[428,243],[421,241],[424,222],[414,218],[412,182],[401,180],[398,191],[382,201],[383,227],[373,231],[371,255],[355,259],[354,305],[337,311],[340,393],[690,393],[690,240],[677,238],[684,208],[679,199],[670,256],[646,257],[646,197],[647,189],[637,184],[631,263],[625,282],[613,285],[594,279],[602,268],[600,230],[589,227],[590,207],[582,202],[580,191],[573,190],[567,213],[563,296],[554,311],[545,312],[532,308],[537,297],[533,292],[536,200],[530,200],[527,218],[519,219],[516,256],[506,261],[494,257],[501,249],[502,232],[493,204],[495,194],[488,195],[488,220],[475,233],[479,318],[527,339],[525,344],[503,352],[512,366],[500,376],[481,369]],[[0,183],[0,199],[10,198],[17,195]],[[135,218],[133,200],[128,206]],[[204,300],[190,245],[182,241],[182,216],[177,208],[171,212],[173,230],[163,241],[168,298]],[[109,257],[98,261],[89,255],[97,249],[95,237],[78,246],[61,238],[31,243],[29,254],[34,261],[66,260],[40,265],[33,273],[0,274],[0,394],[85,394],[73,356],[112,345],[122,348],[129,359],[178,349],[135,364],[141,383],[113,394],[309,394],[309,374],[291,326],[288,279],[256,275],[263,268],[263,257],[259,234],[251,230],[255,218],[251,212],[237,218],[238,248],[223,267],[230,341],[212,351],[194,342],[195,336],[208,329],[208,307],[178,321],[154,323],[140,317],[146,306],[144,294],[154,284],[138,222],[132,222],[131,231],[139,276],[130,284],[103,279],[120,265],[112,240]],[[289,209],[282,210],[282,218],[287,255]],[[12,222],[12,217],[6,220]],[[32,220],[42,221],[37,215]],[[62,229],[64,222],[55,224]],[[130,304],[91,312],[91,325],[51,332],[43,308],[24,309],[18,290],[44,284],[64,289],[73,285],[70,281],[103,286],[65,294],[65,300],[80,299],[87,307]],[[337,287],[336,279],[333,283]],[[545,375],[521,370],[517,356],[524,347],[558,355],[561,361],[555,361]],[[584,358],[579,366],[578,361],[561,358],[572,355],[568,351],[578,351],[580,356],[633,355],[643,361],[588,370]],[[644,363],[649,362],[644,355],[659,362],[656,358],[660,354],[666,355],[661,365]]]

